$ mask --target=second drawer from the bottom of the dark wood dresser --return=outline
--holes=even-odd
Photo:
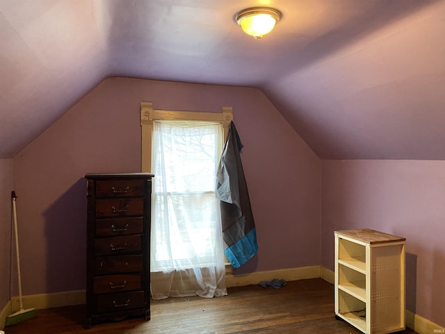
[[[140,275],[134,274],[95,277],[92,287],[94,294],[109,294],[111,292],[121,292],[137,289],[140,289]]]

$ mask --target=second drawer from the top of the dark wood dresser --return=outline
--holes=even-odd
[[[142,216],[143,198],[96,200],[96,217]]]

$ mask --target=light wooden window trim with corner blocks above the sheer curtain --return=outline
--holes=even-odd
[[[153,109],[152,102],[140,102],[141,127],[141,171],[149,172],[152,169],[152,134],[153,122],[156,120],[196,120],[204,122],[223,123],[224,142],[229,132],[230,122],[233,120],[232,106],[223,106],[219,113],[205,111],[172,111]],[[149,143],[149,145],[147,145]]]

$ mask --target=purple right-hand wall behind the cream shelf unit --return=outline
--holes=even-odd
[[[334,230],[406,237],[406,307],[445,326],[445,161],[321,162],[322,264]]]

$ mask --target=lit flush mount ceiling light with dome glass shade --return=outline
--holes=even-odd
[[[280,10],[268,7],[246,8],[235,15],[235,21],[241,29],[257,40],[270,33],[280,19]]]

